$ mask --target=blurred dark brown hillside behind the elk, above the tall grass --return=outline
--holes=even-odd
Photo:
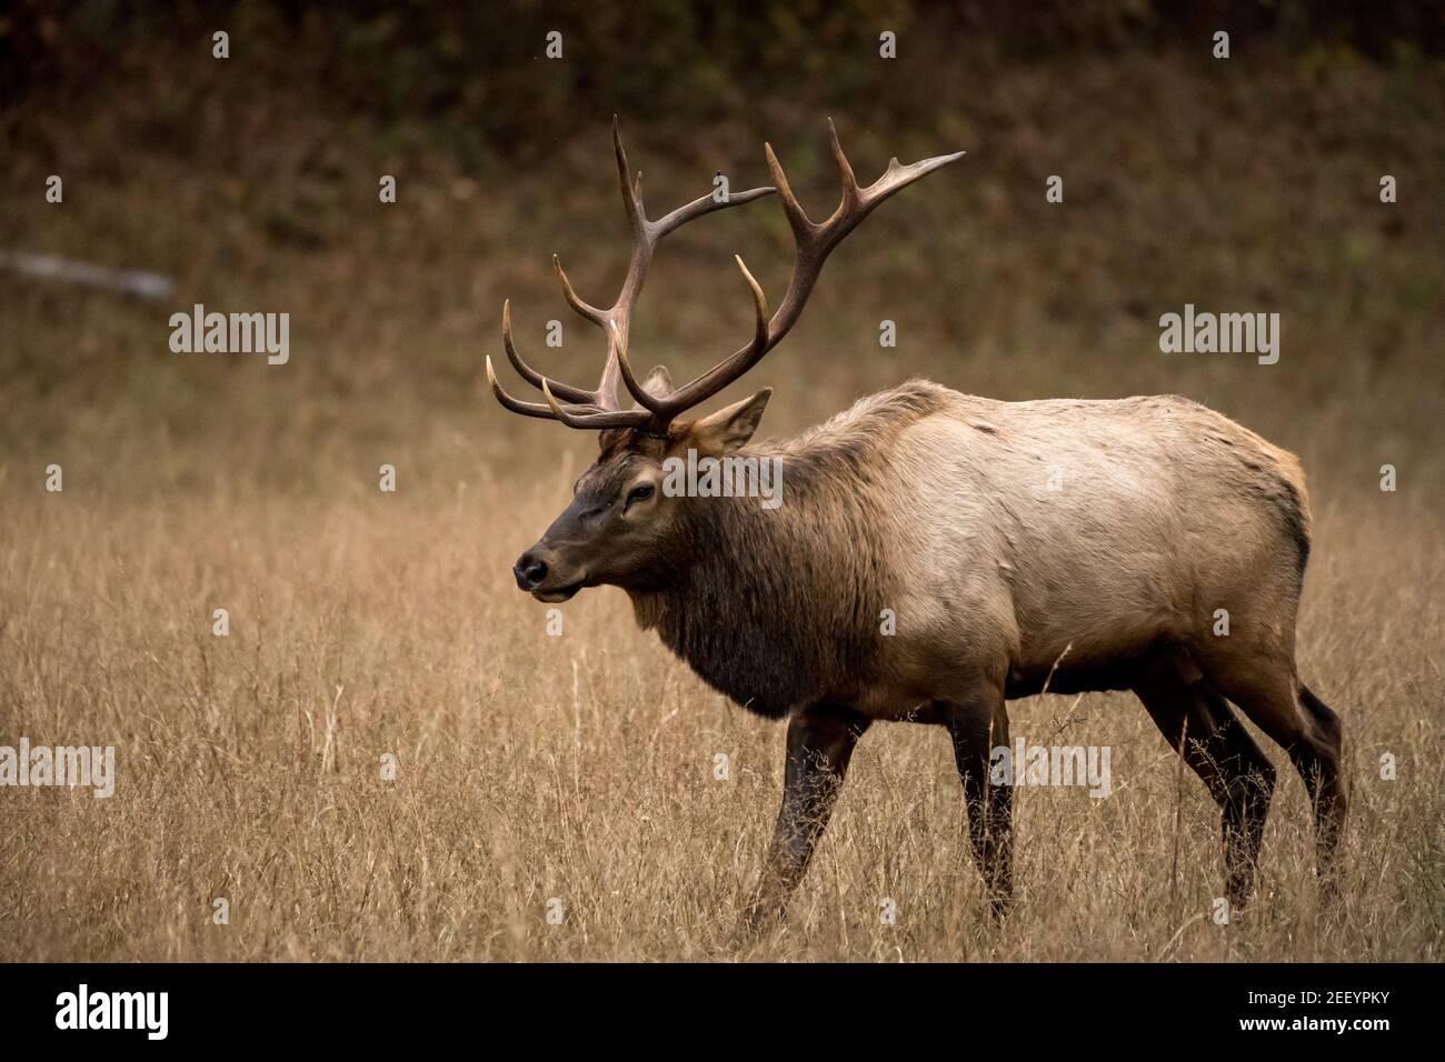
[[[142,494],[325,493],[342,488],[335,468],[380,459],[407,462],[415,485],[584,454],[559,426],[504,416],[483,354],[500,353],[512,298],[523,353],[594,380],[601,337],[549,259],[592,302],[620,285],[614,113],[655,215],[717,170],[766,184],[764,140],[827,214],[829,116],[863,181],[892,155],[968,152],[850,237],[799,328],[733,389],[777,389],[764,433],[916,374],[1006,399],[1181,392],[1364,487],[1436,429],[1439,4],[725,7],[10,4],[0,251],[176,289],[146,301],[0,269],[0,448],[77,474],[101,462],[95,490]],[[879,55],[884,30],[896,59]],[[45,201],[51,173],[64,204]],[[396,204],[379,202],[381,175]],[[1045,201],[1051,175],[1062,205]],[[776,303],[790,250],[776,201],[669,240],[634,360],[711,366],[750,329],[731,254]],[[168,318],[195,302],[289,312],[290,364],[172,354]],[[1280,363],[1160,354],[1157,319],[1185,302],[1280,312]],[[896,348],[879,345],[883,319]],[[1420,458],[1439,477],[1433,449]]]

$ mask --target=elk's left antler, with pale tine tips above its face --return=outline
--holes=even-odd
[[[617,176],[621,181],[623,207],[627,210],[627,223],[633,233],[631,260],[627,264],[627,277],[623,280],[623,289],[617,301],[610,309],[598,309],[584,302],[566,279],[562,263],[555,254],[552,256],[552,269],[556,270],[566,303],[607,334],[607,361],[603,366],[603,377],[597,384],[597,390],[588,392],[549,380],[532,368],[522,360],[516,344],[512,341],[512,303],[510,301],[504,302],[501,306],[501,342],[507,351],[507,360],[512,361],[512,366],[522,379],[533,387],[540,389],[542,396],[546,399],[546,403],[522,402],[507,394],[501,389],[501,384],[497,383],[497,374],[488,357],[487,383],[491,384],[497,400],[514,413],[551,418],[571,428],[627,428],[647,423],[652,419],[652,413],[637,409],[621,409],[618,406],[617,377],[621,351],[627,345],[631,311],[637,305],[637,296],[642,295],[642,285],[647,279],[647,267],[652,264],[652,256],[657,249],[657,243],[668,233],[681,228],[704,214],[711,214],[715,210],[727,207],[740,207],[764,195],[772,195],[775,191],[773,188],[753,188],[746,192],[730,194],[725,199],[717,199],[709,192],[653,221],[643,211],[642,205],[642,173],[639,172],[636,179],[633,179],[627,166],[627,153],[623,150],[621,133],[617,129],[617,116],[613,116],[613,147],[617,155]],[[569,405],[564,406],[558,403],[558,397]]]

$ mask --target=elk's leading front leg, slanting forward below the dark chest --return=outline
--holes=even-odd
[[[867,728],[868,720],[845,705],[808,705],[789,717],[783,805],[749,910],[753,928],[782,915],[789,894],[802,880],[814,845],[832,815],[853,748]]]

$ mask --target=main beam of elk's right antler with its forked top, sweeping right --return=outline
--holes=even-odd
[[[814,283],[818,280],[818,275],[822,272],[822,266],[832,249],[842,243],[842,238],[857,228],[858,223],[890,195],[964,156],[964,152],[955,152],[952,155],[923,159],[907,166],[900,165],[897,159],[892,159],[883,176],[867,188],[860,188],[853,175],[853,166],[848,163],[848,157],[838,143],[838,131],[834,129],[831,118],[828,120],[828,139],[832,156],[838,163],[842,195],[838,208],[822,224],[816,224],[808,217],[808,212],[798,202],[798,197],[793,195],[792,188],[788,185],[788,178],[777,162],[777,156],[773,155],[770,146],[764,144],[767,168],[772,170],[773,184],[777,186],[777,197],[782,199],[783,211],[793,230],[793,241],[796,244],[793,272],[788,280],[788,290],[777,306],[777,312],[767,322],[766,329],[759,327],[751,342],[734,351],[731,357],[720,361],[691,383],[678,387],[672,394],[655,399],[655,405],[649,407],[653,409],[659,420],[670,420],[692,406],[707,402],[757,364],[798,322],[803,305],[812,293]],[[747,273],[746,267],[743,272],[749,283],[756,288],[756,280]],[[760,295],[762,292],[756,290],[754,301],[762,305]]]

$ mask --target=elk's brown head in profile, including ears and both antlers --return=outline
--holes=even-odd
[[[512,341],[510,303],[501,308],[501,341],[507,358],[523,380],[542,392],[545,402],[514,399],[497,381],[487,358],[487,381],[497,402],[523,416],[561,420],[568,428],[598,429],[601,452],[578,478],[572,503],[552,522],[546,533],[513,566],[517,585],[539,601],[566,601],[582,587],[618,585],[644,591],[666,585],[669,575],[686,564],[685,536],[679,526],[686,506],[705,500],[668,497],[662,490],[663,461],[696,449],[699,455],[722,457],[743,446],[763,416],[772,390],[764,387],[736,405],[702,418],[685,413],[756,366],[798,322],[808,295],[828,254],[874,207],[926,173],[962,157],[962,152],[903,166],[889,162],[883,176],[861,188],[853,166],[828,121],[832,156],[838,163],[842,199],[824,223],[812,221],[798,202],[772,146],[764,144],[767,166],[776,188],[753,188],[724,199],[704,195],[653,221],[643,211],[642,173],[631,178],[613,118],[613,146],[621,181],[623,207],[631,227],[633,250],[621,293],[608,309],[578,298],[556,256],[552,266],[568,305],[607,335],[607,361],[595,390],[584,390],[542,376],[523,361]],[[777,312],[769,316],[767,301],[741,257],[736,257],[753,293],[756,327],[753,338],[702,376],[673,387],[665,368],[639,380],[627,357],[627,332],[633,306],[642,293],[647,267],[662,237],[683,224],[725,207],[738,207],[777,192],[796,246],[792,277]],[[617,383],[627,387],[634,405],[624,409]]]

